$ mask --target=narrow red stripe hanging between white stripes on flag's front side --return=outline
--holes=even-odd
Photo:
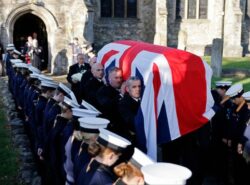
[[[161,78],[159,73],[159,68],[156,64],[153,65],[153,87],[154,87],[154,106],[155,106],[155,122],[156,122],[156,128],[158,126],[158,115],[157,115],[157,100],[158,100],[158,94],[161,87]]]

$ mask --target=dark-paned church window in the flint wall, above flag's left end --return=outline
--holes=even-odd
[[[101,0],[101,17],[136,18],[137,0]]]

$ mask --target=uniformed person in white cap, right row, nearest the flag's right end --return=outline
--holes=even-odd
[[[216,114],[211,120],[212,127],[212,155],[210,163],[213,164],[212,172],[214,172],[218,181],[226,183],[228,181],[228,164],[229,164],[229,148],[231,146],[231,138],[229,138],[229,128],[231,125],[230,118],[234,108],[226,91],[231,87],[231,81],[215,82],[216,89],[212,90],[215,100],[214,110]]]

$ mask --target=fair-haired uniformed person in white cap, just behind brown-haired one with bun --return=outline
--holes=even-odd
[[[79,131],[74,131],[65,146],[67,159],[64,163],[64,169],[68,184],[73,184],[81,169],[90,162],[91,156],[88,153],[88,146],[96,141],[99,128],[106,128],[109,123],[108,120],[103,118],[85,117],[86,113],[81,114],[82,111],[79,109],[74,109],[74,111],[78,112],[81,118],[78,119],[80,123]]]

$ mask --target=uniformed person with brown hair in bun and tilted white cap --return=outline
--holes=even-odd
[[[112,184],[117,177],[112,166],[120,158],[123,150],[131,145],[130,141],[110,132],[100,129],[97,142],[89,145],[89,152],[96,156],[85,165],[77,179],[77,185],[105,185]]]

